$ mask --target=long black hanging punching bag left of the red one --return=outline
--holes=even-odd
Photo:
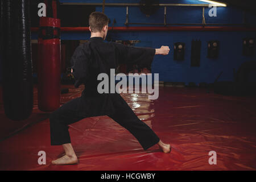
[[[3,1],[3,104],[14,121],[30,116],[33,104],[30,1]]]

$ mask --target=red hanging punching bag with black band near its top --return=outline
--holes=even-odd
[[[56,16],[53,2],[46,3],[48,16]],[[60,106],[60,19],[42,17],[39,26],[38,108],[48,112]]]

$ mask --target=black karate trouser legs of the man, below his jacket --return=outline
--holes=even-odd
[[[75,98],[59,107],[59,109],[53,111],[50,115],[50,129],[51,129],[51,145],[61,145],[65,143],[71,143],[69,136],[68,125],[84,119],[86,117],[92,117],[87,114],[81,116],[77,114],[79,110],[79,102],[82,97]],[[142,122],[141,119],[135,115],[133,110],[123,101],[122,107],[115,108],[114,114],[105,114],[112,118],[115,122],[119,123],[122,127],[125,127],[135,138],[139,141],[144,150],[154,146],[159,142],[159,137]],[[85,111],[85,113],[88,113]]]

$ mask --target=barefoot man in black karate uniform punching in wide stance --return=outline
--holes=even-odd
[[[144,150],[158,144],[163,152],[170,152],[170,144],[164,144],[159,137],[142,122],[118,93],[98,93],[97,80],[100,73],[110,77],[110,69],[118,64],[151,65],[154,55],[167,55],[168,46],[159,49],[135,48],[117,43],[104,42],[108,32],[108,17],[100,12],[89,16],[90,41],[76,48],[72,56],[72,73],[75,87],[85,84],[81,97],[75,98],[54,111],[50,116],[51,144],[63,145],[65,155],[53,160],[53,164],[75,164],[77,156],[71,145],[68,125],[86,117],[108,115],[125,127],[139,141]],[[110,85],[109,85],[110,90]]]

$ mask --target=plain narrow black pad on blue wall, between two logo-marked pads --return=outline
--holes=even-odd
[[[201,40],[192,40],[191,67],[200,67]]]

